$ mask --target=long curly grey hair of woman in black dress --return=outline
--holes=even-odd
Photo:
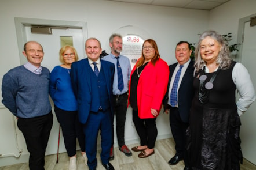
[[[206,37],[211,37],[215,39],[219,44],[221,44],[221,51],[218,54],[217,57],[217,64],[220,66],[221,69],[228,69],[231,66],[232,59],[229,57],[229,48],[228,48],[228,41],[226,41],[222,35],[217,33],[216,31],[205,31],[200,36],[198,46],[195,50],[195,68],[198,71],[199,69],[203,68],[203,65],[205,61],[201,58],[200,55],[200,46],[202,43],[202,40],[204,40]]]

